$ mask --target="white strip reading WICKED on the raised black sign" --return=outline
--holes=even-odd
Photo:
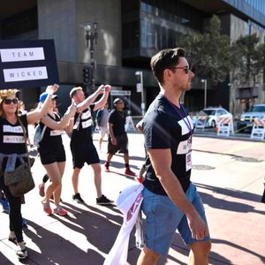
[[[26,81],[36,79],[48,79],[46,66],[4,69],[4,81]]]

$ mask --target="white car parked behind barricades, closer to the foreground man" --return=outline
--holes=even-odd
[[[228,117],[232,119],[232,114],[223,108],[216,108],[216,107],[208,107],[203,109],[199,112],[198,116],[203,116],[203,114],[207,117],[206,118],[206,127],[213,127],[215,128],[219,119]],[[196,126],[197,117],[193,118],[193,124]]]

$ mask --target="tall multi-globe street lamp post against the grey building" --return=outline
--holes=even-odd
[[[84,30],[86,34],[86,41],[87,41],[87,48],[89,48],[90,52],[90,66],[85,67],[85,69],[89,69],[89,79],[88,83],[84,82],[84,84],[87,87],[87,90],[89,86],[91,86],[92,93],[95,91],[95,68],[96,68],[96,62],[94,58],[94,44],[97,44],[97,22],[94,22],[94,31],[92,31],[90,23],[86,22],[84,25]],[[86,72],[86,71],[85,71]]]

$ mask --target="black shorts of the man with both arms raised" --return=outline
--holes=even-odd
[[[71,141],[70,144],[72,152],[72,166],[73,168],[81,169],[85,163],[93,164],[100,163],[95,146],[92,141],[75,143]]]

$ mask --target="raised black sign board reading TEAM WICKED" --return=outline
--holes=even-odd
[[[0,89],[59,83],[54,40],[0,41]]]

